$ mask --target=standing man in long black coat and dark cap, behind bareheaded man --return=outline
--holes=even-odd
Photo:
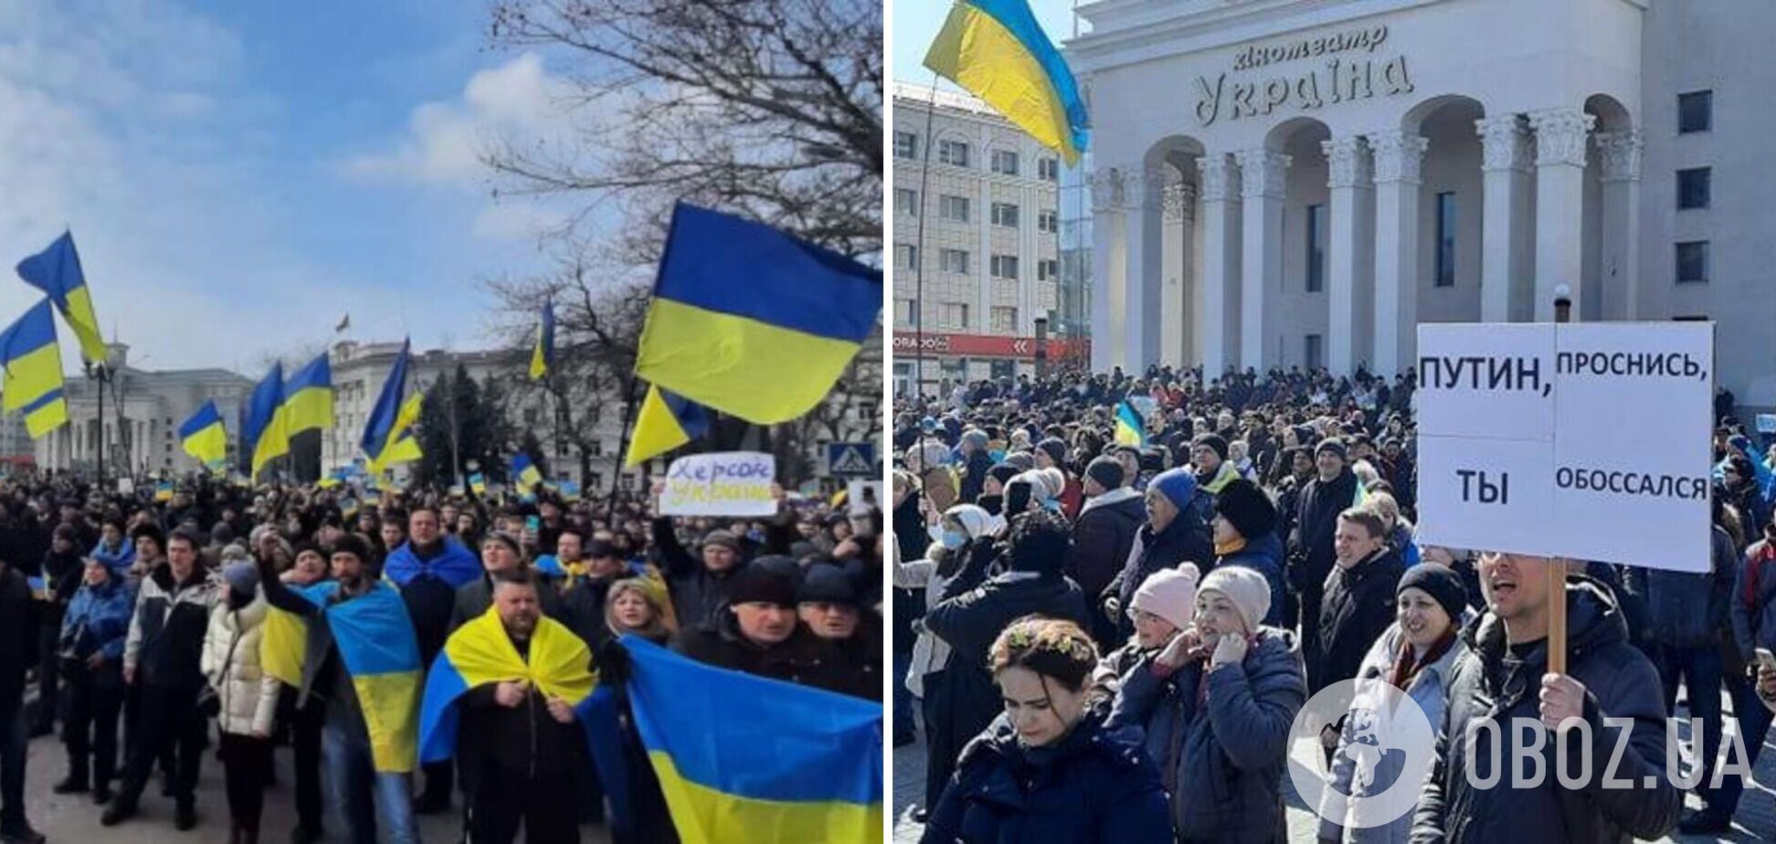
[[[1295,531],[1289,535],[1289,560],[1284,574],[1300,606],[1302,656],[1307,665],[1307,689],[1320,691],[1320,601],[1327,576],[1337,553],[1332,535],[1337,533],[1337,514],[1357,503],[1357,476],[1350,471],[1344,442],[1323,439],[1314,446],[1314,467],[1320,474],[1302,487],[1295,505]]]

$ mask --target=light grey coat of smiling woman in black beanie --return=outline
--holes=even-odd
[[[1471,620],[1472,615],[1463,613],[1462,618],[1451,618],[1449,624],[1460,631],[1460,627]],[[1394,622],[1387,633],[1382,634],[1382,638],[1375,640],[1375,645],[1369,647],[1369,652],[1362,657],[1362,668],[1357,670],[1357,679],[1387,682],[1387,677],[1394,672],[1394,659],[1399,657],[1399,650],[1405,647],[1410,647],[1407,643],[1407,636],[1399,629],[1399,622]],[[1460,636],[1456,636],[1456,641],[1449,645],[1449,650],[1444,650],[1435,663],[1421,666],[1417,673],[1412,675],[1412,681],[1407,682],[1407,697],[1419,705],[1433,732],[1442,727],[1446,707],[1444,695],[1449,689],[1449,672],[1455,668],[1455,663],[1462,657],[1462,654],[1467,654],[1467,645],[1463,645]],[[1401,766],[1398,762],[1403,760],[1403,757],[1384,755],[1375,768],[1369,785],[1357,784],[1353,787],[1357,760],[1355,755],[1346,752],[1353,737],[1352,727],[1353,723],[1346,721],[1346,730],[1339,736],[1337,752],[1332,753],[1330,787],[1320,796],[1320,840],[1346,840],[1344,833],[1348,832],[1348,840],[1353,844],[1405,844],[1405,840],[1412,835],[1412,812],[1399,816],[1394,823],[1369,828],[1352,826],[1346,830],[1343,823],[1328,819],[1339,810],[1334,794],[1350,794],[1353,798],[1376,796],[1382,791],[1371,789],[1387,789],[1387,784],[1398,782],[1399,778]],[[1396,764],[1389,764],[1391,760]],[[1423,784],[1419,789],[1423,791]]]

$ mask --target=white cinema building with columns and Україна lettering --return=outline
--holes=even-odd
[[[1550,320],[1566,284],[1575,320],[1716,320],[1719,380],[1776,403],[1776,4],[1080,14],[1096,370],[1391,373],[1417,322]]]

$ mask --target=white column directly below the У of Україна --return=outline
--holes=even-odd
[[[1202,195],[1202,384],[1220,378],[1240,343],[1240,171],[1225,155],[1197,158]]]

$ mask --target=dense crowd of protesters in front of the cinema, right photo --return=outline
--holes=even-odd
[[[893,741],[925,743],[924,840],[1286,840],[1291,723],[1341,681],[1392,686],[1439,739],[1415,810],[1376,828],[1337,805],[1398,768],[1359,776],[1352,743],[1375,737],[1328,725],[1320,840],[1726,830],[1776,705],[1776,670],[1756,668],[1776,649],[1776,460],[1732,396],[1712,569],[1572,561],[1550,595],[1542,558],[1417,542],[1414,393],[1410,370],[1151,368],[899,398]],[[1689,816],[1666,776],[1680,686],[1703,771]],[[1717,778],[1723,693],[1749,759]],[[1513,718],[1586,721],[1591,780],[1488,782]],[[1483,721],[1501,729],[1463,743]],[[1556,743],[1534,744],[1543,771]],[[1606,762],[1623,787],[1598,787]]]

